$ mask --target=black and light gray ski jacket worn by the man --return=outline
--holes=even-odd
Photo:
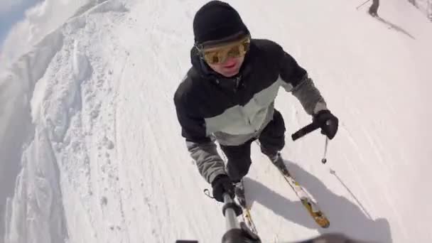
[[[279,87],[291,92],[308,114],[326,104],[306,70],[280,45],[252,39],[239,75],[222,77],[191,50],[190,68],[174,95],[186,146],[201,175],[211,183],[225,174],[214,143],[235,146],[259,136],[274,114]]]

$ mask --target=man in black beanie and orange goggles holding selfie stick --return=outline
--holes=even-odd
[[[291,92],[323,134],[333,139],[338,118],[306,70],[277,43],[253,39],[239,13],[222,1],[210,1],[193,19],[192,68],[175,91],[178,121],[200,174],[212,185],[216,200],[223,193],[244,198],[242,183],[251,166],[251,143],[286,171],[284,119],[274,100],[279,87]],[[215,141],[227,156],[227,168]],[[233,185],[234,183],[234,185]]]

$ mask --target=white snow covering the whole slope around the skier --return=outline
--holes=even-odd
[[[1,239],[219,242],[222,205],[202,193],[210,186],[173,107],[205,1],[61,2],[78,10],[0,74]],[[279,92],[283,156],[330,227],[315,225],[253,144],[245,185],[263,242],[325,232],[431,241],[431,23],[405,0],[383,2],[381,20],[342,0],[230,3],[254,37],[280,43],[308,70],[340,119],[322,164],[319,132],[289,140],[310,117]]]

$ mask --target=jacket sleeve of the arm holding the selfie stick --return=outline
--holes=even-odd
[[[225,174],[225,164],[217,153],[215,142],[206,135],[204,118],[190,114],[180,95],[175,95],[174,103],[190,156],[195,160],[202,177],[212,183],[217,175]]]

